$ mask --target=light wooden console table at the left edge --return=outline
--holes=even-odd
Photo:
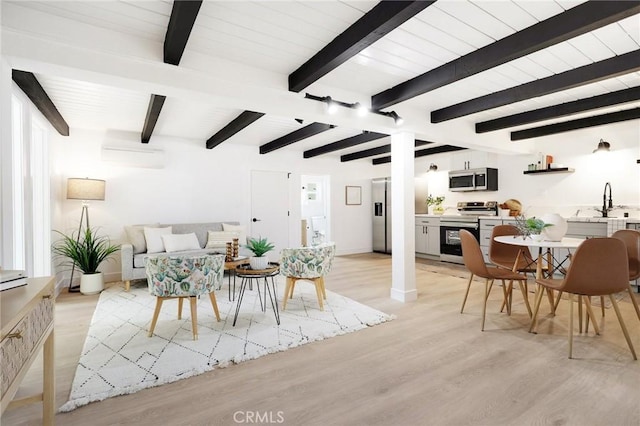
[[[42,401],[42,423],[54,423],[54,303],[53,277],[29,278],[26,286],[0,292],[0,414],[8,407]],[[41,348],[44,351],[42,394],[13,400]]]

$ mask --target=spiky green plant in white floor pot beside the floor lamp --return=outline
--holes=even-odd
[[[53,244],[52,251],[55,255],[66,258],[61,265],[75,267],[82,272],[80,292],[82,294],[100,293],[104,289],[104,279],[98,267],[103,261],[108,260],[109,256],[120,250],[120,246],[111,244],[108,237],[97,236],[91,228],[87,228],[80,235],[69,236],[56,232],[61,235],[61,238]]]

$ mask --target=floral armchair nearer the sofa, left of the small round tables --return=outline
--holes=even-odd
[[[178,298],[178,319],[182,319],[182,302],[189,298],[193,340],[198,339],[197,298],[209,295],[216,319],[220,321],[214,289],[222,283],[224,255],[158,256],[145,259],[149,293],[156,296],[149,337],[153,335],[162,302]]]

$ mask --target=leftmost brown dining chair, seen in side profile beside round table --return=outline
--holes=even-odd
[[[489,299],[489,293],[491,292],[491,288],[493,287],[493,281],[502,281],[502,291],[504,296],[503,300],[507,301],[507,289],[513,285],[513,281],[519,281],[520,284],[522,284],[523,281],[527,280],[527,277],[523,274],[513,272],[509,269],[487,266],[484,263],[484,258],[482,257],[480,243],[478,243],[478,240],[476,240],[476,237],[474,237],[471,232],[461,229],[460,243],[462,244],[462,259],[464,261],[464,265],[467,267],[469,272],[471,272],[471,277],[469,278],[469,283],[467,284],[467,291],[464,294],[464,300],[462,301],[462,308],[460,309],[460,313],[464,311],[464,305],[467,303],[467,297],[469,296],[469,289],[471,288],[471,281],[473,281],[473,277],[478,276],[480,278],[484,278],[484,301],[482,304],[481,327],[481,330],[484,331],[484,323],[487,313],[487,299]],[[505,281],[507,280],[509,281],[508,286],[505,283]],[[508,312],[510,313],[510,311]]]

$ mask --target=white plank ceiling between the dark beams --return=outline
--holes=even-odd
[[[305,92],[368,105],[371,96],[380,91],[580,3],[583,1],[439,0],[301,94],[288,92],[288,75],[377,2],[205,0],[177,70],[162,63],[162,43],[171,14],[171,1],[21,0],[3,1],[0,7],[3,52],[15,62],[15,67],[31,67],[25,70],[36,74],[72,131],[74,128],[91,128],[139,133],[152,93],[146,87],[147,81],[135,84],[134,78],[139,82],[142,80],[137,77],[139,67],[140,72],[146,69],[149,73],[148,83],[153,85],[154,92],[167,95],[154,136],[193,138],[202,140],[204,146],[209,137],[244,109],[266,112],[266,115],[225,144],[262,145],[302,127],[295,118],[304,118],[305,125],[312,121],[338,124],[335,129],[285,148],[303,151],[353,136],[365,128],[394,130],[391,120],[386,117],[356,120],[348,116],[350,111],[341,111],[340,117],[326,116],[320,103],[302,100]],[[39,43],[35,46],[46,44],[51,58],[46,51],[23,48],[26,44],[16,41]],[[476,135],[472,131],[473,125],[508,114],[638,86],[640,73],[514,103],[447,123],[429,123],[429,113],[639,47],[640,18],[634,15],[394,105],[389,110],[406,117],[407,128],[416,132],[420,139],[458,145],[470,140],[482,145],[491,139],[495,144],[504,144],[505,149],[514,149],[517,144],[508,141],[508,131],[492,132],[488,138]],[[55,52],[61,53],[53,58]],[[77,60],[81,65],[64,66],[65,59],[60,57],[73,52],[76,52],[74,57],[66,61]],[[78,58],[78,52],[83,53],[86,65],[82,58]],[[98,60],[104,63],[97,63]],[[135,68],[131,70],[132,80],[126,81],[127,70],[110,71],[111,63],[113,68],[116,68],[116,63],[132,64]],[[85,66],[82,72],[77,71]],[[76,71],[67,69],[73,67]],[[202,83],[202,96],[190,96],[186,92],[197,91],[198,80],[206,80]],[[216,82],[219,88],[216,88]],[[166,92],[163,92],[163,84]],[[262,109],[256,109],[256,106]],[[631,106],[640,106],[640,102],[610,107],[606,112]],[[555,119],[540,124],[565,120]],[[330,155],[359,151],[384,142],[388,143],[371,142]]]

